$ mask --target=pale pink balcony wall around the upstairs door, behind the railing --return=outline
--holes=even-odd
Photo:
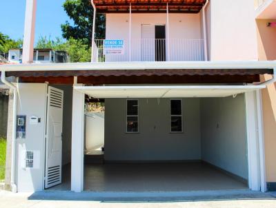
[[[106,56],[106,61],[128,61],[128,21],[129,14],[106,14],[106,39],[126,40],[125,54]],[[142,24],[166,25],[166,14],[132,14],[132,61],[141,61]],[[169,14],[169,30],[170,61],[186,61],[186,59],[187,61],[199,61],[204,59],[204,54],[202,54],[204,51],[203,42],[200,40],[202,38],[200,14]],[[152,53],[154,53],[153,50]]]

